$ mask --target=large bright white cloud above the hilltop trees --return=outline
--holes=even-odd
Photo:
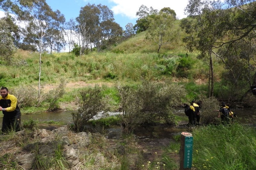
[[[160,11],[164,7],[170,7],[172,10],[175,11],[176,17],[186,18],[187,16],[184,14],[184,9],[188,4],[188,0],[110,0],[111,2],[115,3],[116,5],[111,8],[111,10],[115,14],[120,14],[127,16],[131,19],[138,18],[136,17],[136,12],[139,11],[141,5],[145,5],[148,8],[152,7],[153,9],[157,9]]]

